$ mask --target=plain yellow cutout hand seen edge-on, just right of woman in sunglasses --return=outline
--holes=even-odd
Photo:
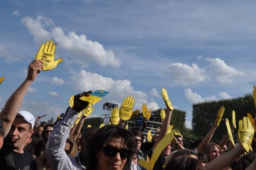
[[[174,139],[175,132],[176,130],[174,129],[171,133],[165,135],[164,138],[162,138],[162,140],[154,148],[151,159],[148,159],[148,162],[146,160],[140,159],[138,161],[138,164],[140,164],[142,167],[144,167],[147,170],[153,170],[154,164],[157,161],[158,157],[160,156],[161,152],[164,150],[167,144],[169,144]]]

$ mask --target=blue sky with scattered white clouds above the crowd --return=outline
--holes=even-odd
[[[256,2],[226,0],[0,0],[0,107],[26,77],[46,40],[63,58],[33,82],[21,109],[44,120],[70,96],[104,89],[97,103],[164,107],[161,88],[187,112],[192,104],[251,93],[256,83]],[[224,113],[231,114],[231,113]]]

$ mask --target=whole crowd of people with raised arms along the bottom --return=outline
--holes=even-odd
[[[165,140],[172,110],[167,106],[166,116],[158,136],[144,141],[141,131],[125,129],[124,120],[118,125],[102,128],[84,128],[82,115],[75,125],[79,112],[89,102],[79,99],[92,91],[74,96],[72,107],[54,124],[38,123],[27,111],[19,111],[31,83],[43,68],[43,62],[34,60],[28,68],[26,80],[7,100],[0,113],[0,169],[1,170],[255,170],[256,147],[254,139],[240,141],[235,146],[226,134],[222,140],[210,143],[217,129],[215,122],[202,141],[194,141],[185,148],[183,137],[174,135],[161,154],[152,158]],[[248,118],[241,123],[248,126]],[[247,123],[247,124],[246,124]],[[231,128],[235,130],[234,127]],[[239,130],[240,132],[240,130]],[[246,128],[243,132],[247,133]],[[240,132],[242,133],[242,131]],[[249,133],[249,132],[248,132]],[[247,133],[247,134],[248,134]],[[251,142],[253,144],[251,145]],[[248,152],[244,143],[251,145]],[[142,160],[153,166],[145,167]],[[152,168],[152,169],[151,169]]]

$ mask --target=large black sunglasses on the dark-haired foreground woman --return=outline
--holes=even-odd
[[[114,157],[117,153],[120,154],[121,158],[130,158],[132,151],[131,151],[131,149],[127,149],[127,148],[118,149],[109,144],[103,148],[103,154],[105,156]]]

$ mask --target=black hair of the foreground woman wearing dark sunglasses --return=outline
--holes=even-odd
[[[98,129],[86,148],[87,169],[96,170],[98,159],[97,151],[103,149],[113,138],[122,138],[123,144],[135,153],[134,140],[131,132],[117,125],[105,125]],[[131,170],[131,157],[127,158],[123,170]]]

